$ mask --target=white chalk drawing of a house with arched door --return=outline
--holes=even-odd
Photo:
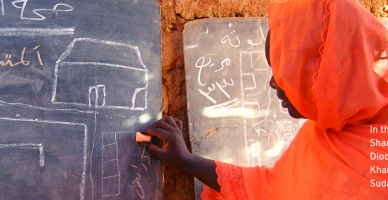
[[[77,38],[57,60],[54,76],[53,104],[147,108],[148,69],[137,46]]]

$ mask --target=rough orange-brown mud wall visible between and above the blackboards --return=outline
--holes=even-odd
[[[265,17],[270,0],[157,0],[162,15],[163,113],[183,121],[189,149],[183,27],[185,23],[215,17]],[[358,0],[376,17],[388,17],[388,0]],[[194,179],[164,167],[164,199],[194,200]]]

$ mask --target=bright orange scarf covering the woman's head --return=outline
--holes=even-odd
[[[268,13],[274,78],[298,111],[321,129],[375,123],[388,103],[386,28],[355,0],[273,2]]]

